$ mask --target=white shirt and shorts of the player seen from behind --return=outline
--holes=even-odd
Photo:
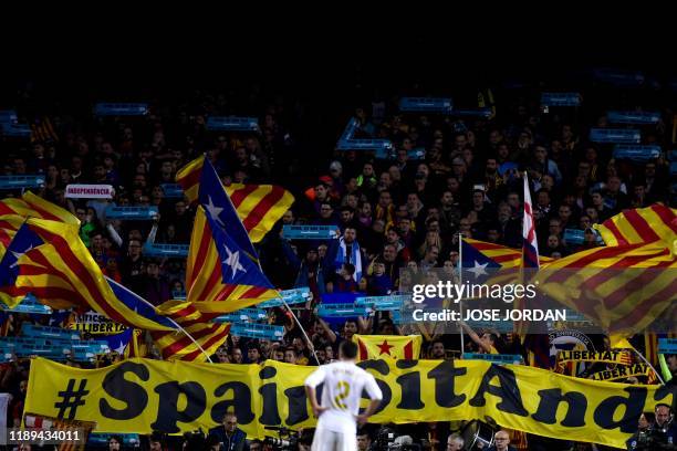
[[[305,385],[322,387],[320,406],[327,408],[320,415],[313,451],[353,451],[357,449],[357,420],[362,391],[371,399],[383,399],[374,376],[353,363],[336,361],[322,365],[305,379]]]

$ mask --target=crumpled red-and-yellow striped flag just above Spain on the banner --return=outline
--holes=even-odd
[[[211,323],[189,302],[167,301],[158,307],[176,321],[196,343],[183,332],[152,332],[150,336],[165,360],[205,361],[207,355],[216,354],[228,338],[230,324]],[[205,350],[200,349],[200,347]]]

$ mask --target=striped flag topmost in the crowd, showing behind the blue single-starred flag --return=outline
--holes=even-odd
[[[176,174],[176,181],[181,185],[190,202],[197,202],[200,177],[205,157],[199,157],[184,166]],[[263,239],[275,222],[294,202],[291,192],[275,185],[241,185],[226,187],[238,217],[249,233],[252,242]]]

